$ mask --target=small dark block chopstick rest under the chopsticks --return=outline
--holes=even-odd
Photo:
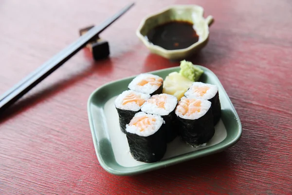
[[[80,36],[87,33],[94,26],[89,26],[79,30]],[[104,59],[109,57],[110,55],[110,44],[108,41],[100,39],[99,36],[95,36],[91,39],[91,41],[86,45],[87,48],[92,53],[92,57],[94,60]]]

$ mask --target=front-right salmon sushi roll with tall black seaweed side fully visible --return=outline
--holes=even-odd
[[[211,102],[183,97],[176,109],[178,130],[183,141],[196,147],[207,143],[215,133]]]

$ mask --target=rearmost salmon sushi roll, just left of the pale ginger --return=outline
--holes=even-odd
[[[151,96],[161,94],[163,78],[152,74],[140,74],[129,83],[128,88]]]

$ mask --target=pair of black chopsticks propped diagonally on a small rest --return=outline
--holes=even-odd
[[[93,37],[100,34],[103,30],[110,26],[110,24],[125,14],[133,5],[134,3],[129,4],[108,20],[104,21],[98,26],[91,28],[86,34],[82,35],[67,48],[56,54],[52,59],[46,61],[39,68],[37,68],[37,70],[28,75],[26,78],[22,79],[17,85],[4,93],[0,97],[0,113],[16,102],[33,87],[35,87],[40,81],[48,77],[68,59],[73,57],[88,42],[90,42]]]

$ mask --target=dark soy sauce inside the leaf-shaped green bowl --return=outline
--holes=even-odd
[[[151,29],[146,38],[167,50],[185,49],[195,42],[199,36],[188,21],[170,21]]]

